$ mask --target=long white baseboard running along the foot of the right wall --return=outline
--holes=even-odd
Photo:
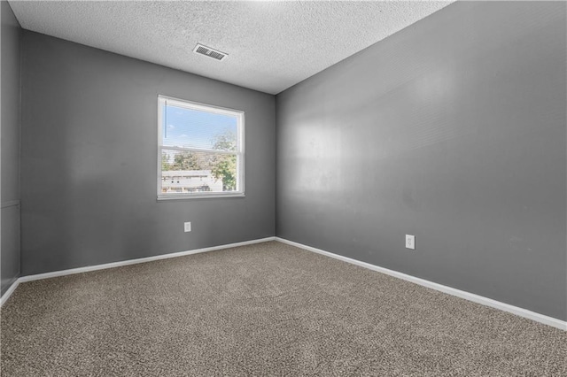
[[[361,267],[369,268],[370,270],[377,271],[378,273],[385,273],[387,275],[391,275],[391,276],[394,276],[396,278],[403,279],[405,281],[411,281],[411,282],[419,284],[423,287],[439,290],[440,292],[447,293],[447,294],[452,295],[452,296],[461,297],[461,298],[464,298],[466,300],[472,301],[472,302],[477,303],[477,304],[483,304],[483,305],[486,305],[486,306],[490,306],[490,307],[495,308],[495,309],[500,309],[501,311],[504,311],[504,312],[510,312],[510,313],[516,314],[520,317],[532,319],[532,320],[535,320],[537,322],[543,323],[545,325],[557,327],[557,328],[562,329],[563,331],[567,331],[567,321],[564,321],[564,320],[561,320],[561,319],[555,319],[553,317],[548,317],[547,315],[540,314],[540,313],[537,313],[537,312],[528,311],[526,309],[519,308],[519,307],[514,306],[514,305],[501,303],[500,301],[493,300],[492,298],[488,298],[488,297],[485,297],[485,296],[478,296],[478,295],[475,295],[474,293],[466,292],[464,290],[447,287],[445,285],[438,284],[438,283],[435,283],[433,281],[426,281],[424,279],[416,278],[415,276],[411,276],[411,275],[408,275],[406,273],[399,273],[397,271],[389,270],[389,269],[384,268],[384,267],[379,267],[377,265],[371,265],[371,264],[366,263],[366,262],[361,262],[360,260],[343,257],[343,256],[340,256],[338,254],[333,254],[329,251],[315,249],[314,247],[307,246],[307,245],[304,245],[304,244],[301,244],[301,243],[298,243],[298,242],[288,241],[288,240],[285,240],[285,239],[280,238],[280,237],[276,237],[276,241],[287,243],[288,245],[298,247],[299,249],[313,251],[313,252],[316,252],[318,254],[322,254],[324,256],[330,257],[330,258],[336,258],[338,260],[342,260],[344,262],[351,263],[353,265],[360,265]]]

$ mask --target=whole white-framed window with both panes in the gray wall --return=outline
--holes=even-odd
[[[158,199],[245,195],[245,113],[158,96]]]

